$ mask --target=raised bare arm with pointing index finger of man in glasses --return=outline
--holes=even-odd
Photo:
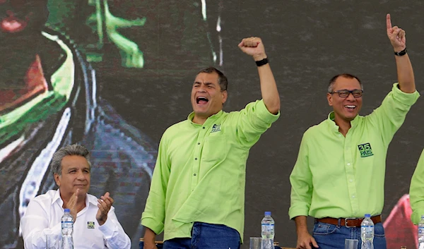
[[[405,30],[398,26],[391,26],[390,14],[386,16],[387,37],[389,37],[391,46],[396,53],[396,71],[398,75],[399,89],[402,92],[412,93],[416,91],[415,79],[413,76],[413,69],[409,56],[406,53],[406,37]],[[404,54],[404,52],[406,54]],[[404,55],[401,55],[404,54]]]

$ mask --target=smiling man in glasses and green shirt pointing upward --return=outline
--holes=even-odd
[[[360,223],[371,214],[375,223],[374,248],[386,248],[381,212],[387,148],[418,99],[405,32],[391,26],[387,36],[395,52],[399,83],[380,107],[358,116],[363,86],[350,74],[330,80],[327,99],[333,110],[328,119],[303,135],[298,160],[290,175],[290,219],[295,219],[297,248],[344,248],[346,238],[360,241]],[[313,236],[307,216],[315,218]],[[361,242],[361,241],[360,241]]]

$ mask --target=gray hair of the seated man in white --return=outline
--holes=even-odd
[[[67,145],[66,147],[60,148],[57,152],[54,152],[52,162],[50,163],[50,166],[52,167],[52,172],[54,174],[58,174],[61,176],[61,161],[66,156],[81,156],[85,157],[87,159],[88,165],[90,165],[91,168],[91,162],[90,162],[90,152],[86,149],[86,147],[83,147],[82,145]]]

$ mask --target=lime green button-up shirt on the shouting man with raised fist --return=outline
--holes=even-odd
[[[195,221],[224,224],[243,238],[245,167],[250,147],[278,119],[264,102],[218,112],[202,125],[186,121],[167,128],[141,224],[164,240],[191,237]]]

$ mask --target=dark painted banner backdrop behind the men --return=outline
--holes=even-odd
[[[55,187],[52,153],[74,142],[92,152],[90,193],[111,192],[137,248],[158,142],[191,111],[196,71],[216,66],[228,75],[226,111],[260,98],[254,62],[237,48],[249,36],[264,40],[282,104],[247,163],[245,241],[259,236],[271,211],[276,241],[295,247],[288,176],[302,133],[331,110],[327,81],[358,75],[361,114],[379,106],[396,82],[391,13],[406,30],[421,90],[423,8],[394,0],[1,0],[0,248],[23,248],[20,217],[31,198]],[[422,109],[418,99],[389,147],[384,219],[408,193],[423,150]],[[401,199],[386,224],[389,248],[415,246],[407,204]]]

